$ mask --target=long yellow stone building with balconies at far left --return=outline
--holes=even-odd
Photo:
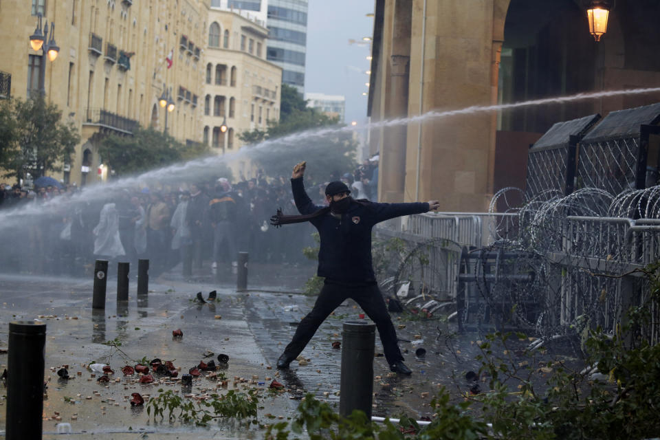
[[[164,87],[175,101],[168,133],[180,142],[201,142],[207,11],[208,0],[0,3],[0,71],[11,76],[12,97],[38,93],[41,50],[34,52],[28,41],[37,14],[55,25],[60,51],[46,62],[45,96],[82,140],[64,175],[54,177],[78,185],[106,178],[100,140],[108,133],[131,135],[137,124],[164,129],[166,110],[157,104]]]

